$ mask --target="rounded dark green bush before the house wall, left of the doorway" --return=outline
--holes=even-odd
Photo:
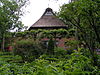
[[[17,41],[14,44],[14,54],[20,55],[23,61],[33,61],[45,52],[41,44],[32,39]]]

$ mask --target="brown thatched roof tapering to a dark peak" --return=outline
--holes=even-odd
[[[46,28],[66,28],[66,25],[55,16],[51,8],[47,8],[42,17],[35,22],[31,29],[46,29]]]

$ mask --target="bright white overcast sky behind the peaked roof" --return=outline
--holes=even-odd
[[[58,12],[62,4],[69,0],[29,0],[30,3],[24,8],[25,13],[21,17],[25,26],[32,26],[44,13],[45,9],[50,7],[54,12]]]

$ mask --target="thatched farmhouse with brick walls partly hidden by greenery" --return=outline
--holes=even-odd
[[[67,29],[67,25],[65,25],[63,21],[56,17],[51,8],[47,8],[41,18],[29,28],[29,30],[37,29]],[[44,44],[48,45],[48,38],[44,38],[41,40],[44,42]],[[58,47],[65,48],[65,40],[65,38],[57,38],[56,45]]]

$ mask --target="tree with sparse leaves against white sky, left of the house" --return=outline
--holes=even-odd
[[[21,8],[27,0],[0,0],[0,40],[1,49],[4,51],[4,43],[7,32],[10,30],[20,30],[23,27],[19,20]]]

